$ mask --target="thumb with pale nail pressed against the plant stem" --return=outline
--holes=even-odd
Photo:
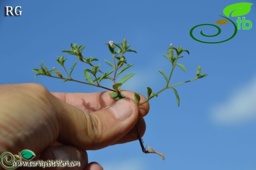
[[[137,104],[130,98],[122,98],[92,113],[61,103],[62,106],[57,107],[61,108],[57,111],[60,125],[58,141],[81,149],[113,145],[134,127],[138,119]]]

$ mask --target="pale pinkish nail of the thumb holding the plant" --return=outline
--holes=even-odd
[[[133,110],[131,108],[130,101],[127,98],[118,100],[109,108],[113,110],[120,121],[125,121],[127,118],[129,118]]]

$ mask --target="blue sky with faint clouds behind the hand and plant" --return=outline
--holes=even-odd
[[[238,2],[254,3],[245,15],[253,26],[238,30],[224,43],[205,44],[193,40],[190,29],[198,24],[221,20],[224,7]],[[4,6],[21,6],[22,15],[4,16]],[[247,0],[1,0],[0,1],[0,84],[40,83],[55,92],[97,92],[74,82],[50,77],[34,78],[32,68],[41,60],[48,68],[60,66],[56,55],[76,61],[63,49],[70,43],[86,45],[85,57],[101,61],[111,57],[104,43],[127,38],[137,54],[128,54],[136,73],[124,88],[146,95],[146,86],[158,91],[164,79],[158,70],[169,72],[161,56],[170,43],[190,51],[180,60],[188,73],[177,68],[172,82],[192,79],[198,65],[209,76],[178,86],[180,107],[173,91],[150,102],[145,117],[145,146],[165,155],[143,154],[138,141],[88,151],[89,161],[105,170],[256,170],[256,1]],[[231,17],[236,22],[236,17]],[[231,23],[219,25],[222,34],[232,35]],[[205,33],[216,32],[204,27]],[[198,33],[196,34],[198,35]],[[84,80],[82,63],[73,74]],[[102,62],[102,70],[109,66]],[[110,85],[106,82],[106,85]]]

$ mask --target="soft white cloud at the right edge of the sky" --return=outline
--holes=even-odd
[[[256,77],[212,109],[214,121],[231,125],[256,120]]]

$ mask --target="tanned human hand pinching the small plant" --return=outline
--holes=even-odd
[[[115,101],[102,93],[50,93],[39,84],[0,85],[0,153],[32,150],[43,160],[80,161],[79,170],[102,170],[88,164],[85,150],[134,141],[141,136],[149,104],[139,108],[129,97]],[[145,97],[141,96],[141,102]],[[108,107],[110,106],[110,107]],[[58,141],[61,146],[52,146]]]

